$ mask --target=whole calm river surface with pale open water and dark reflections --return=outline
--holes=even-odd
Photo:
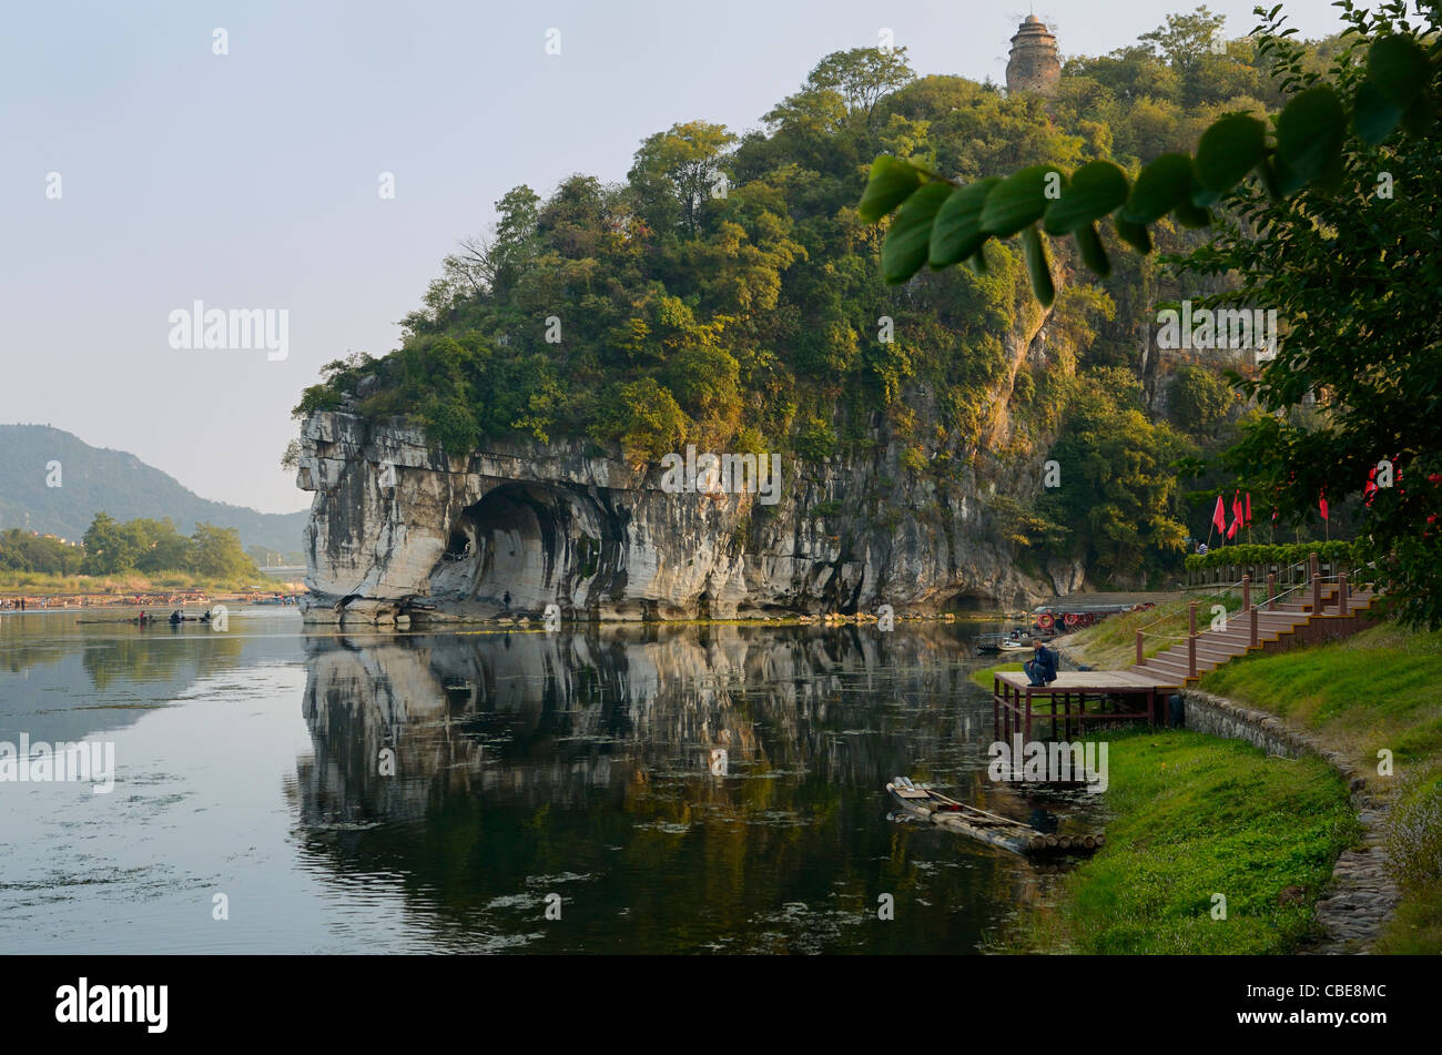
[[[117,764],[110,794],[0,783],[4,948],[995,948],[1056,871],[890,819],[885,781],[1063,829],[1094,804],[986,781],[970,634],[0,615],[0,741],[108,741]]]

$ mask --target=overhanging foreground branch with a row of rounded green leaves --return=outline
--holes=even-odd
[[[1266,16],[1273,26],[1280,9]],[[1295,32],[1268,35],[1259,50],[1280,46]],[[1273,127],[1252,114],[1229,114],[1203,133],[1194,154],[1162,154],[1135,180],[1097,160],[1070,174],[1037,164],[963,186],[883,154],[871,166],[858,212],[875,223],[898,210],[881,249],[888,282],[904,282],[923,265],[942,270],[962,261],[982,272],[986,242],[1019,233],[1032,293],[1050,307],[1056,285],[1047,235],[1074,238],[1082,261],[1105,278],[1112,264],[1097,223],[1106,219],[1123,244],[1145,255],[1152,251],[1149,225],[1171,213],[1182,226],[1210,226],[1213,206],[1253,176],[1273,200],[1304,187],[1335,189],[1345,173],[1348,128],[1367,147],[1383,144],[1399,125],[1417,137],[1430,133],[1438,102],[1430,85],[1439,65],[1436,39],[1425,48],[1406,29],[1387,33],[1367,52],[1350,112],[1334,85],[1314,82],[1292,97]],[[1291,71],[1291,85],[1304,79],[1295,63],[1283,61],[1282,68]]]

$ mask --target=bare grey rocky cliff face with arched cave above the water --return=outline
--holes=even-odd
[[[1008,342],[1012,372],[1045,360],[1044,321]],[[1024,458],[998,454],[1017,447],[1015,425],[1005,393],[994,408],[983,450],[949,453],[945,473],[907,468],[907,448],[885,438],[880,415],[864,457],[784,455],[774,504],[746,490],[673,493],[660,466],[629,466],[581,441],[495,441],[456,458],[420,429],[319,412],[303,424],[298,471],[314,493],[306,618],[538,618],[552,604],[568,620],[884,604],[901,615],[1070,592],[1080,568],[1027,575],[996,538],[988,496],[998,486],[1032,493],[1044,455],[1031,453],[1035,437]]]

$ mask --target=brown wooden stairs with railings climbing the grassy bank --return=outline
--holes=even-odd
[[[1305,589],[1301,597],[1286,602],[1278,602],[1276,608],[1268,608],[1266,601],[1256,605],[1257,613],[1257,643],[1252,643],[1252,615],[1249,610],[1234,613],[1227,617],[1226,630],[1206,630],[1197,634],[1197,667],[1191,669],[1187,641],[1182,640],[1165,651],[1149,656],[1144,663],[1136,663],[1128,670],[1144,677],[1154,677],[1162,686],[1185,687],[1200,680],[1201,675],[1216,670],[1237,656],[1250,651],[1268,651],[1291,647],[1292,638],[1299,630],[1311,627],[1314,621],[1335,620],[1340,617],[1338,584],[1322,584],[1319,604],[1312,611],[1312,591]],[[1350,618],[1367,611],[1376,594],[1366,588],[1350,588],[1347,592],[1347,615]],[[1327,610],[1331,608],[1331,613]]]

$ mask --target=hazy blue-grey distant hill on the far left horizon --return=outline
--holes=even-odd
[[[62,466],[62,486],[45,486],[49,461]],[[301,548],[306,513],[260,513],[208,502],[134,454],[91,447],[49,425],[0,425],[0,529],[25,528],[79,540],[95,512],[117,520],[166,517],[189,535],[196,520],[235,528],[247,546],[281,553]]]

